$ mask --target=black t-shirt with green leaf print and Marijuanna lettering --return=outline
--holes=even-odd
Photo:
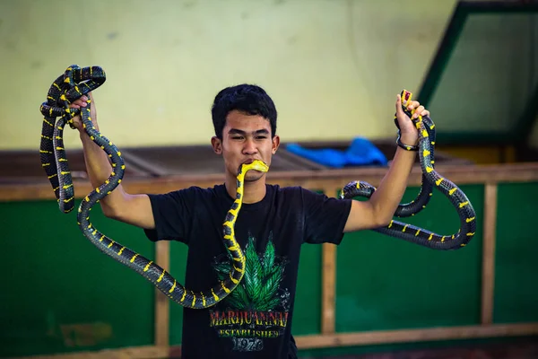
[[[243,204],[235,224],[247,266],[228,297],[208,309],[184,308],[182,358],[289,358],[297,348],[291,320],[302,243],[339,244],[351,200],[305,188],[266,185],[263,200]],[[234,201],[224,185],[149,195],[152,241],[188,246],[185,286],[205,291],[227,274],[222,223]]]

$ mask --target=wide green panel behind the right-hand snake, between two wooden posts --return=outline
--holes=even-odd
[[[346,235],[338,248],[336,331],[479,323],[483,187],[461,188],[478,219],[464,249],[430,250],[371,231]],[[417,193],[409,188],[404,202]],[[402,220],[445,235],[459,228],[456,210],[438,191],[421,213]]]

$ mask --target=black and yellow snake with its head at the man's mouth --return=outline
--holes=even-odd
[[[91,207],[95,206],[101,198],[106,197],[114,188],[117,188],[123,179],[126,166],[116,145],[93,127],[90,117],[91,101],[88,100],[88,106],[82,109],[71,109],[69,104],[82,97],[83,94],[98,88],[105,82],[105,79],[105,73],[99,66],[84,68],[76,65],[69,66],[65,73],[58,76],[52,83],[48,91],[47,101],[40,106],[40,111],[44,116],[39,149],[40,159],[56,194],[60,210],[69,213],[74,208],[74,187],[62,136],[65,125],[69,124],[73,127],[73,118],[80,113],[84,130],[93,142],[99,144],[103,151],[108,153],[112,164],[112,173],[108,180],[92,190],[87,197],[84,197],[79,206],[77,219],[84,236],[109,257],[116,259],[151,281],[172,301],[194,309],[213,306],[239,285],[245,272],[245,257],[234,233],[236,219],[243,200],[245,174],[250,170],[266,172],[268,167],[264,162],[255,161],[243,164],[239,168],[236,199],[222,223],[222,241],[233,263],[230,276],[204,292],[194,292],[185,288],[152,260],[129,250],[117,241],[112,241],[90,223]],[[57,117],[59,120],[56,122]]]

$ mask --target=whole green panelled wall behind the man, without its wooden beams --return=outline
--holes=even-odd
[[[345,235],[337,248],[337,332],[480,323],[484,188],[461,188],[478,217],[476,236],[462,250],[429,250],[376,232]],[[417,193],[418,188],[408,188],[404,201]],[[495,323],[538,321],[533,233],[538,204],[529,200],[537,195],[538,183],[499,185]],[[140,230],[104,218],[99,207],[91,220],[113,240],[155,257],[153,244]],[[153,344],[153,286],[91,245],[74,214],[59,212],[55,201],[4,202],[0,221],[6,254],[0,264],[0,357]],[[406,222],[441,233],[458,229],[456,212],[438,192]],[[321,250],[303,246],[295,336],[320,332]],[[170,272],[179,281],[185,276],[186,254],[184,245],[172,243]],[[180,345],[181,308],[172,303],[169,312],[169,342]],[[380,347],[395,346],[358,350]],[[301,355],[328,352],[302,350]]]

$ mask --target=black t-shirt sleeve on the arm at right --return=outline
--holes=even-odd
[[[340,244],[351,210],[351,199],[327,197],[303,189],[305,241]]]

